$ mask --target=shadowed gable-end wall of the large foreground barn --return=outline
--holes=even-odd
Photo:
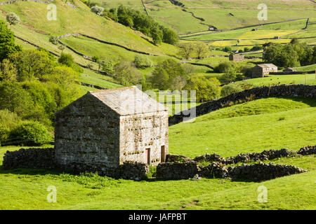
[[[55,114],[55,150],[61,166],[118,167],[119,115],[84,95]]]

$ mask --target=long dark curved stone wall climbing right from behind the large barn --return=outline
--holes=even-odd
[[[316,85],[274,85],[271,87],[254,87],[250,90],[236,92],[234,94],[228,95],[227,97],[200,104],[193,109],[195,109],[196,111],[196,116],[202,116],[206,113],[210,113],[211,111],[221,109],[223,108],[223,106],[227,105],[230,102],[238,102],[251,96],[254,96],[254,99],[261,99],[266,97],[316,98]],[[181,111],[180,113],[169,117],[169,126],[183,122],[184,118],[190,117],[190,111],[192,111],[192,109]]]

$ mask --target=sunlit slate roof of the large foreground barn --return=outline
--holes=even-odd
[[[152,99],[136,86],[89,91],[87,94],[92,94],[121,116],[168,111],[166,106]]]

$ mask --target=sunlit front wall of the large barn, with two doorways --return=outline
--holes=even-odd
[[[147,163],[145,149],[150,148],[150,165],[161,162],[161,151],[168,154],[168,112],[121,116],[119,162]]]

